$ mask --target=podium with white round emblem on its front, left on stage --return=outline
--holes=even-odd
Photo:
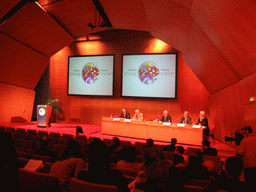
[[[37,126],[50,127],[52,107],[49,105],[37,105]]]

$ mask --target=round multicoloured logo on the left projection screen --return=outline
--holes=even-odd
[[[94,63],[86,63],[82,70],[82,77],[88,84],[95,83],[98,79],[100,70]]]

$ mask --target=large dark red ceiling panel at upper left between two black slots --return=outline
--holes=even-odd
[[[0,31],[49,57],[74,41],[37,3],[24,5]]]

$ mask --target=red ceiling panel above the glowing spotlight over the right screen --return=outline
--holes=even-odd
[[[174,1],[144,0],[150,32],[180,51],[191,29],[190,9]]]

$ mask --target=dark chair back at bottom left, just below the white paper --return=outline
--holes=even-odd
[[[20,191],[60,192],[59,179],[47,173],[39,173],[19,168]]]

